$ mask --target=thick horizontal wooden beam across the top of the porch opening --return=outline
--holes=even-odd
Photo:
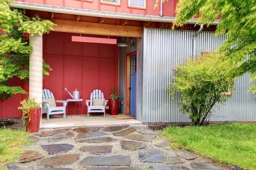
[[[118,37],[141,37],[142,27],[86,23],[69,20],[48,19],[57,24],[53,31],[81,34],[109,35]]]

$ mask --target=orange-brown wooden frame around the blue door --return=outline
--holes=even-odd
[[[126,78],[125,78],[125,115],[130,115],[130,82],[131,82],[131,56],[136,54],[136,63],[138,57],[138,51],[134,51],[132,53],[126,54]],[[137,68],[138,70],[138,68]],[[137,74],[136,74],[137,76]],[[136,87],[137,87],[137,79],[136,79]],[[136,96],[137,96],[137,92]],[[137,103],[136,103],[136,110],[137,110]],[[137,112],[136,116],[137,117]]]

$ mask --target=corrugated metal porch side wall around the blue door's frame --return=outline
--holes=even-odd
[[[129,40],[125,37],[125,42]],[[142,77],[143,77],[143,39],[133,38],[133,45],[119,47],[119,96],[122,96],[123,105],[121,113],[125,114],[125,78],[126,78],[126,54],[134,51],[137,53],[137,120],[142,121]]]

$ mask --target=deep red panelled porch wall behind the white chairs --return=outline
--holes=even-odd
[[[56,100],[70,99],[64,91],[82,91],[82,113],[87,114],[85,100],[95,89],[110,96],[110,86],[118,84],[118,47],[116,45],[72,42],[79,34],[51,32],[44,36],[44,59],[51,66],[50,76],[44,78],[44,88],[52,91]],[[102,37],[85,35],[87,37]],[[109,37],[117,38],[117,37]],[[75,105],[76,108],[76,105]],[[68,112],[67,112],[68,113]]]

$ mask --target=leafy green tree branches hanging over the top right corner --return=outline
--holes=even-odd
[[[156,0],[155,7],[157,3],[159,0]],[[219,17],[215,35],[226,33],[227,40],[218,53],[224,53],[223,59],[231,59],[232,64],[239,65],[233,70],[233,77],[248,72],[252,75],[251,80],[256,80],[255,0],[179,0],[176,12],[173,28],[175,25],[183,26],[187,20],[198,15],[197,24],[207,26]],[[249,90],[255,93],[256,85],[252,85]]]

